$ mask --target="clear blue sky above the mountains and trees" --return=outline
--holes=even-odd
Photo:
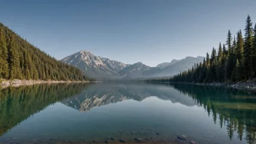
[[[1,0],[0,21],[62,59],[80,50],[155,66],[204,56],[228,29],[244,34],[255,0]]]

